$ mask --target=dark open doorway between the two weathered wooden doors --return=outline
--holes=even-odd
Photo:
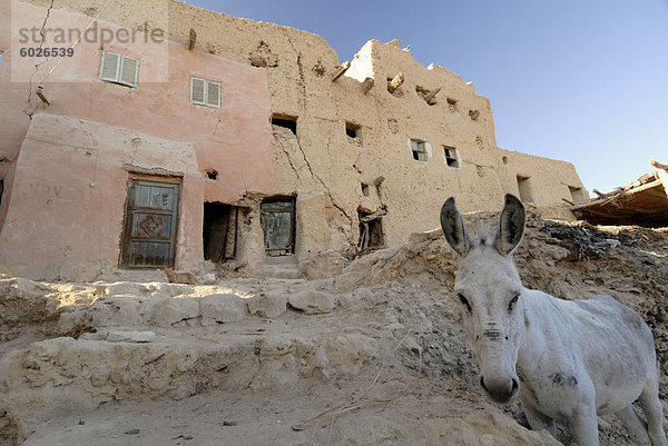
[[[204,259],[215,264],[236,255],[238,207],[219,202],[204,204]]]

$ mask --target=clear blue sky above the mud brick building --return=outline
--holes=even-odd
[[[610,191],[668,163],[668,0],[188,0],[322,36],[350,60],[401,40],[492,102],[499,147]]]

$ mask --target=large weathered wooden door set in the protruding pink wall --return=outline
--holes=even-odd
[[[121,266],[173,267],[179,185],[130,178]]]

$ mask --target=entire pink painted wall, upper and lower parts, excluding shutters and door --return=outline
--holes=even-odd
[[[0,270],[76,279],[114,270],[127,194],[124,163],[183,175],[176,268],[197,268],[204,201],[232,202],[246,190],[275,194],[265,70],[174,42],[106,43],[106,51],[140,60],[139,86],[129,88],[99,80],[100,43],[81,40],[75,57],[43,81],[46,106],[36,86],[59,58],[40,67],[29,101],[36,59],[18,57],[18,48],[35,43],[19,43],[16,32],[41,26],[45,14],[16,0],[0,4]],[[90,21],[53,9],[48,27],[85,30]],[[189,102],[191,76],[220,82],[220,108]],[[206,169],[217,170],[218,179],[207,179]]]

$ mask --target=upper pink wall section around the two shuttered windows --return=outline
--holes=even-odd
[[[75,47],[75,57],[66,58],[45,81],[51,106],[41,103],[35,92],[29,103],[28,80],[36,59],[16,57],[17,48],[27,43],[18,42],[18,33],[9,31],[40,27],[45,14],[45,8],[16,0],[0,6],[0,50],[6,51],[0,69],[0,156],[16,160],[30,125],[26,112],[47,111],[191,142],[199,171],[204,174],[212,168],[219,172],[217,181],[205,181],[206,201],[230,202],[246,190],[275,194],[271,107],[264,69],[188,51],[174,42],[156,43],[138,38],[135,43],[106,43],[106,51],[140,60],[139,88],[129,88],[99,80],[100,42],[81,40]],[[88,16],[53,9],[48,27],[85,30],[90,21]],[[99,28],[119,30],[118,26],[104,21],[99,21]],[[51,58],[40,68],[33,78],[33,91],[35,83],[57,61]],[[189,102],[190,76],[222,83],[219,109]],[[155,81],[160,79],[168,81]],[[11,163],[0,163],[0,176],[10,170]]]

